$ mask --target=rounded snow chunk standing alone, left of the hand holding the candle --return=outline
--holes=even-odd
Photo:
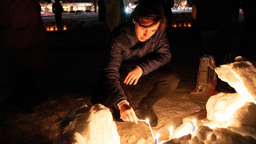
[[[120,144],[120,136],[110,109],[83,105],[60,123],[59,144]]]

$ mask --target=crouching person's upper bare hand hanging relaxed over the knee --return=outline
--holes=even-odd
[[[142,75],[141,69],[139,67],[136,67],[128,73],[124,83],[126,83],[127,85],[128,84],[131,85],[134,81],[133,85],[136,85],[141,75]]]

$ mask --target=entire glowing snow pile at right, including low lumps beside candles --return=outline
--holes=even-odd
[[[236,62],[215,69],[222,81],[237,93],[218,93],[206,104],[207,119],[198,120],[194,131],[192,119],[173,132],[173,139],[159,144],[255,144],[256,143],[256,68],[237,57]]]

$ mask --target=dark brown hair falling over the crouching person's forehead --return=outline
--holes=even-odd
[[[144,28],[155,26],[158,22],[160,22],[158,30],[164,31],[166,28],[166,19],[163,8],[160,3],[155,1],[144,0],[140,2],[131,13],[130,18],[139,23],[140,27],[142,26],[142,20],[145,19],[153,23],[151,25],[142,26]]]

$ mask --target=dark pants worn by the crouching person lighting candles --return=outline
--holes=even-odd
[[[132,88],[134,85],[126,85],[124,84],[125,77],[130,71],[127,70],[119,70],[120,72],[120,85],[124,89],[124,91]],[[167,96],[170,92],[172,92],[177,85],[179,84],[180,79],[179,76],[174,70],[170,69],[167,66],[163,66],[147,75],[143,75],[139,78],[138,83],[136,86],[144,86],[144,87],[151,87],[153,89],[147,93],[147,96],[144,100],[144,104],[146,105],[154,105],[157,101],[162,99],[163,97]],[[98,85],[99,86],[99,85]],[[110,98],[103,93],[101,87],[96,87],[92,98],[91,103],[100,103],[106,107],[113,106],[113,102],[110,101]],[[134,91],[135,93],[136,91]],[[131,96],[133,97],[133,96]],[[128,98],[128,101],[131,98]]]

